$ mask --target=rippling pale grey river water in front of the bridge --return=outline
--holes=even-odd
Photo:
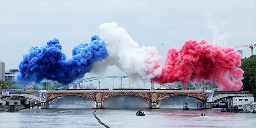
[[[220,109],[97,109],[95,114],[111,128],[256,128],[256,114],[222,113]],[[205,117],[200,114],[205,113]],[[0,128],[105,128],[92,109],[23,109],[0,111]]]

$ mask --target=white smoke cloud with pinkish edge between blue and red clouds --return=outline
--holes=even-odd
[[[159,62],[162,57],[159,56],[156,47],[142,46],[140,48],[139,44],[133,41],[125,29],[119,27],[115,22],[103,23],[99,29],[100,38],[105,41],[109,56],[108,59],[95,64],[95,67],[101,64],[101,67],[105,65],[106,68],[115,64],[127,75],[145,81],[161,75],[162,70]]]

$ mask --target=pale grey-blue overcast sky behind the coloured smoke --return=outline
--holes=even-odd
[[[53,38],[71,58],[74,46],[89,43],[102,23],[112,22],[164,58],[189,39],[223,47],[255,44],[256,0],[0,0],[0,60],[6,71],[18,69],[31,47]],[[236,50],[250,56],[247,47]],[[111,66],[103,75],[125,73]],[[91,76],[97,75],[85,74]]]

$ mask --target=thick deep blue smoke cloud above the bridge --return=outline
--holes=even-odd
[[[69,84],[90,72],[92,64],[106,59],[108,51],[99,36],[92,36],[89,44],[79,44],[72,50],[72,58],[61,51],[59,40],[54,38],[46,46],[32,47],[19,64],[16,81],[41,82],[51,79],[61,84]]]

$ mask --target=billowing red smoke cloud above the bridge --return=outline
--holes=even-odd
[[[214,82],[220,90],[238,90],[243,83],[241,54],[234,48],[188,40],[181,49],[168,49],[159,83]]]

